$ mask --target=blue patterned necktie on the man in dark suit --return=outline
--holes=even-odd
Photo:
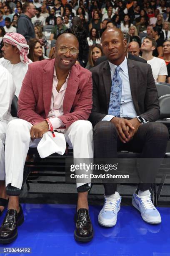
[[[115,74],[113,75],[108,110],[108,115],[116,115],[117,117],[120,117],[120,102],[122,96],[122,80],[119,74],[120,69],[121,68],[117,66]]]

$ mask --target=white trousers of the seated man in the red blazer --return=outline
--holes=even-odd
[[[40,139],[33,142],[30,139],[32,124],[15,119],[8,123],[5,141],[5,181],[6,186],[21,189],[23,183],[23,169],[29,147],[37,147]],[[62,130],[63,131],[63,130]],[[93,159],[93,131],[89,121],[77,120],[64,130],[65,140],[73,147],[74,159]],[[87,183],[87,182],[86,182]],[[77,184],[77,187],[82,184]]]

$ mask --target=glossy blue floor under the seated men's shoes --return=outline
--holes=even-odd
[[[98,225],[100,208],[90,206],[93,240],[78,243],[73,237],[75,205],[24,204],[25,222],[18,228],[17,240],[0,247],[30,247],[32,253],[1,255],[170,256],[170,208],[159,208],[162,223],[150,225],[135,208],[121,207],[113,228]]]

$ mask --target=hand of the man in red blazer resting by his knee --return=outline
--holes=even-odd
[[[47,121],[42,121],[37,125],[33,125],[30,130],[31,139],[42,138],[43,134],[49,130],[49,125]]]

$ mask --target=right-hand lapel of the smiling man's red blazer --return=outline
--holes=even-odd
[[[73,66],[70,71],[67,88],[65,90],[65,96],[63,100],[64,114],[70,113],[70,110],[72,108],[80,81],[80,78],[78,77],[79,75],[80,72],[78,71],[77,67]]]

